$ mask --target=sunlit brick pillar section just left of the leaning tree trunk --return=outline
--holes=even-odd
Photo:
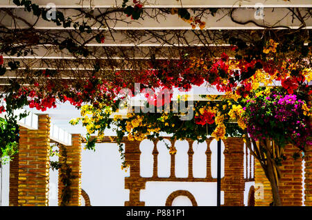
[[[273,201],[271,185],[257,158],[254,158],[254,183],[254,206],[269,206]]]

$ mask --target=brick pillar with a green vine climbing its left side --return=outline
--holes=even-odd
[[[62,204],[62,195],[64,184],[62,183],[62,176],[66,175],[66,171],[71,170],[71,185],[69,193],[71,197],[66,204],[67,206],[81,205],[81,136],[80,134],[71,135],[71,146],[60,147],[59,162],[62,164],[61,169],[58,170],[58,205]],[[67,158],[65,164],[64,150],[66,150]]]

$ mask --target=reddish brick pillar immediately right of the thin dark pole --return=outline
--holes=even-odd
[[[224,205],[243,206],[244,175],[243,175],[243,139],[227,138],[225,143],[225,176],[222,182]]]

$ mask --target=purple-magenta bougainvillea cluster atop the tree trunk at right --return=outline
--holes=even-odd
[[[248,99],[244,116],[250,137],[270,138],[282,146],[292,143],[304,149],[304,145],[312,143],[311,122],[307,117],[310,114],[310,107],[297,95],[272,89],[268,94],[258,92]]]

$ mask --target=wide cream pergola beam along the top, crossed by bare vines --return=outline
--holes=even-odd
[[[153,9],[146,9],[146,13],[148,15],[153,15]],[[75,17],[78,16],[80,12],[74,9],[62,9],[65,17]],[[254,14],[256,10],[254,8],[238,8],[233,12],[233,18],[240,22],[245,21],[254,21],[259,25],[265,25],[269,27],[277,27],[279,29],[284,29],[285,27],[289,28],[299,28],[302,23],[296,18],[292,16],[292,13],[287,8],[265,8],[263,10],[264,19],[255,19]],[[307,13],[306,8],[300,8],[300,12],[302,15]],[[95,12],[95,16],[100,14],[100,12]],[[232,21],[232,19],[228,15],[228,10],[223,10],[217,12],[215,16],[211,14],[205,15],[202,17],[201,21],[206,22],[205,30],[250,30],[250,29],[263,29],[261,26],[257,26],[254,23],[250,22],[248,24],[236,24]],[[0,15],[0,21],[3,26],[7,28],[29,28],[27,24],[25,24],[21,20],[16,20],[16,22],[12,21],[12,17],[10,15],[5,14],[4,12]],[[56,26],[53,22],[45,21],[44,19],[39,19],[37,21],[36,17],[34,17],[30,12],[24,11],[23,8],[15,8],[15,15],[18,15],[22,19],[25,19],[30,24],[35,24],[35,29],[40,30],[60,30],[64,29],[62,26]],[[111,15],[111,19],[106,19],[107,26],[114,30],[192,30],[192,27],[187,22],[183,21],[177,15],[166,15],[159,16],[157,19],[151,17],[144,17],[144,19],[139,19],[137,21],[131,20],[129,17],[125,17],[124,14],[114,14]],[[118,20],[116,21],[116,16]],[[37,23],[36,23],[37,21]],[[81,16],[76,19],[82,23],[84,18]],[[311,16],[306,18],[305,20],[306,26],[305,28],[312,28],[312,19]],[[16,25],[16,26],[15,26]],[[106,26],[103,24],[94,24],[94,21],[89,22],[89,25],[92,26],[93,30],[108,30]],[[74,29],[71,28],[66,28]],[[196,29],[199,30],[197,26]]]

